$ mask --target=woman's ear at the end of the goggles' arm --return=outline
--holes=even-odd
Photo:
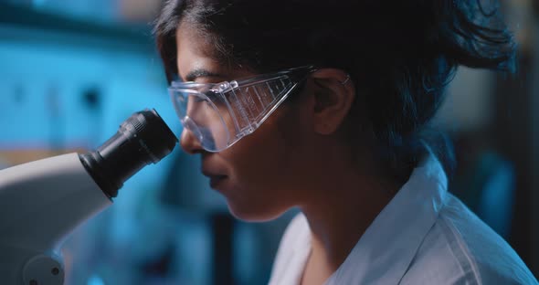
[[[355,98],[354,82],[341,69],[320,69],[312,73],[313,127],[320,134],[336,132]]]

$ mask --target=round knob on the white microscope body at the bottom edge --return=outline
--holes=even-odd
[[[25,285],[61,285],[64,283],[64,269],[52,257],[37,255],[26,261],[23,269]]]

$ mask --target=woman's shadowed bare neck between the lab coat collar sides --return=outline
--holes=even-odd
[[[313,179],[311,195],[301,205],[312,233],[312,252],[303,280],[323,280],[343,264],[367,227],[402,186],[379,175],[343,165]],[[311,275],[312,277],[312,275]]]

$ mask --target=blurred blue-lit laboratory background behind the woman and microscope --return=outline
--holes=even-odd
[[[180,134],[153,43],[162,3],[0,0],[0,169],[95,148],[145,108]],[[433,123],[455,145],[450,191],[539,277],[539,2],[502,0],[502,10],[517,72],[459,69]],[[63,248],[67,284],[267,283],[294,211],[235,220],[198,164],[176,147],[77,227]]]

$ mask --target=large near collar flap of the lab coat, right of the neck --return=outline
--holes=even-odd
[[[326,284],[397,284],[438,218],[447,185],[446,174],[430,153]]]

